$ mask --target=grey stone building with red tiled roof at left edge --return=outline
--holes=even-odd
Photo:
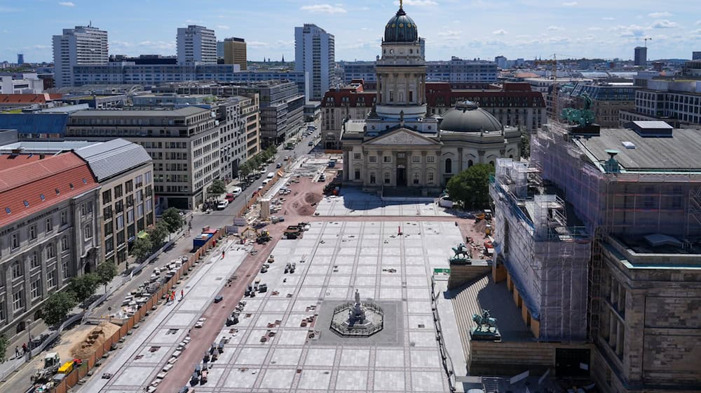
[[[100,185],[73,152],[0,154],[0,334],[39,319],[43,300],[95,269]]]

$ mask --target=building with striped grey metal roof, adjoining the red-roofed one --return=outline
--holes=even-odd
[[[154,225],[154,187],[151,157],[132,142],[41,141],[0,146],[0,154],[55,156],[74,152],[88,164],[100,185],[96,225],[99,233],[98,263],[125,267],[128,246],[139,233]]]

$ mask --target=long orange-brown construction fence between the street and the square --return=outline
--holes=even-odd
[[[116,345],[122,338],[124,338],[132,330],[132,328],[134,328],[134,325],[138,324],[139,321],[146,316],[147,312],[150,312],[154,306],[158,305],[158,301],[161,300],[161,298],[163,298],[165,294],[176,285],[177,281],[181,279],[181,277],[186,275],[186,272],[191,269],[195,262],[200,260],[200,258],[203,258],[206,253],[215,247],[217,240],[221,239],[222,233],[222,229],[219,229],[217,233],[210,240],[208,240],[207,243],[205,243],[204,246],[200,247],[196,253],[190,256],[190,258],[180,267],[180,269],[175,272],[175,275],[165,284],[163,284],[163,286],[161,286],[161,289],[159,289],[158,292],[151,295],[151,298],[149,298],[144,305],[139,307],[137,312],[132,315],[132,317],[123,322],[123,325],[118,331],[104,341],[102,347],[97,347],[95,352],[90,355],[88,359],[82,359],[83,365],[66,375],[66,378],[64,378],[59,385],[53,387],[50,392],[67,393],[70,388],[78,384],[79,380],[85,378],[86,375],[88,375],[88,372],[95,368],[104,355],[111,350],[112,345]]]

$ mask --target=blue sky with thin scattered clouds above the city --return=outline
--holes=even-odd
[[[294,60],[294,27],[314,23],[336,41],[336,61],[374,60],[398,0],[0,0],[0,61],[53,59],[51,37],[107,30],[109,53],[175,55],[177,27],[202,25],[247,42],[248,60]],[[427,60],[621,58],[647,42],[648,58],[701,51],[699,0],[404,0]]]

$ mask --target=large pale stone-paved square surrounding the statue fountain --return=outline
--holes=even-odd
[[[257,277],[268,292],[244,298],[240,323],[222,326],[217,342],[229,342],[196,391],[447,392],[430,277],[460,239],[453,222],[313,222],[303,239],[279,241]],[[386,330],[341,338],[325,315],[356,289],[390,314]]]

